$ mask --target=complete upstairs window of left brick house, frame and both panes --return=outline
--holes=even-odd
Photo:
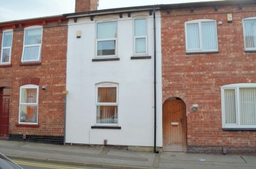
[[[39,62],[41,60],[42,34],[41,26],[25,29],[21,62]]]

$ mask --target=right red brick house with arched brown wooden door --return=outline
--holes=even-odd
[[[161,51],[164,151],[255,154],[256,2],[162,6]]]

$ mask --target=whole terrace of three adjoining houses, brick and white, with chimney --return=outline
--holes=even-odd
[[[0,23],[2,138],[256,153],[255,0],[75,2]]]

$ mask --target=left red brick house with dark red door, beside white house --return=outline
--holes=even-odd
[[[0,23],[0,137],[63,143],[67,19]]]

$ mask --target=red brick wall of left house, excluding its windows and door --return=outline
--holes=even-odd
[[[11,67],[0,67],[0,81],[11,82],[10,134],[63,136],[64,95],[66,80],[67,21],[49,22],[43,26],[41,65],[20,65],[23,50],[23,28],[14,29]],[[29,24],[31,26],[31,21]],[[38,24],[36,24],[38,25]],[[23,24],[26,27],[26,23]],[[2,33],[0,32],[0,38]],[[0,40],[1,48],[1,40]],[[19,87],[29,83],[39,85],[38,125],[18,126]],[[46,85],[47,89],[41,87]]]

